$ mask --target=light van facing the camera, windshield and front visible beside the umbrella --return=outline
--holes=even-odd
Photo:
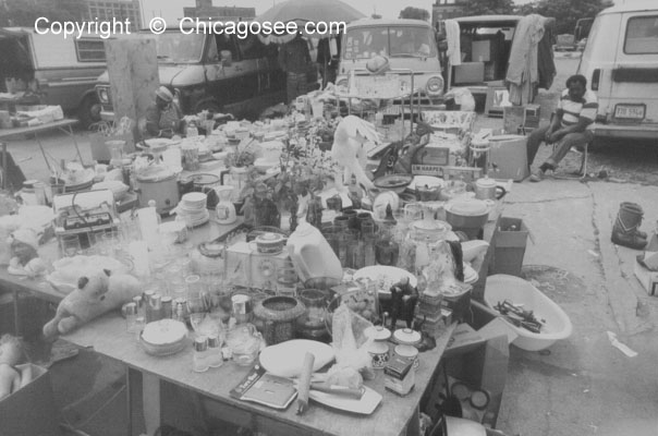
[[[368,74],[366,63],[378,55],[389,59],[393,72],[413,71],[414,88],[430,101],[439,100],[443,94],[443,76],[436,34],[429,23],[374,19],[350,23],[342,38],[337,85],[345,86],[351,71]],[[400,74],[410,75],[405,72]]]

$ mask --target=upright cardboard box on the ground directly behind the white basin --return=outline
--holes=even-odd
[[[516,230],[508,230],[511,228]],[[493,232],[493,274],[521,277],[527,237],[522,219],[500,217]]]

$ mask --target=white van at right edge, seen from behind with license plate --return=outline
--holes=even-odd
[[[658,2],[602,10],[577,72],[598,96],[598,137],[658,138]]]

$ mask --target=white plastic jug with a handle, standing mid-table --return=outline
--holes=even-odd
[[[288,238],[288,253],[302,282],[315,277],[341,280],[343,268],[322,233],[302,222]]]

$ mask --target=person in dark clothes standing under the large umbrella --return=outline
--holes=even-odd
[[[283,45],[279,50],[279,65],[285,71],[285,92],[288,104],[292,104],[297,96],[306,94],[306,74],[310,64],[308,44],[302,34]]]

